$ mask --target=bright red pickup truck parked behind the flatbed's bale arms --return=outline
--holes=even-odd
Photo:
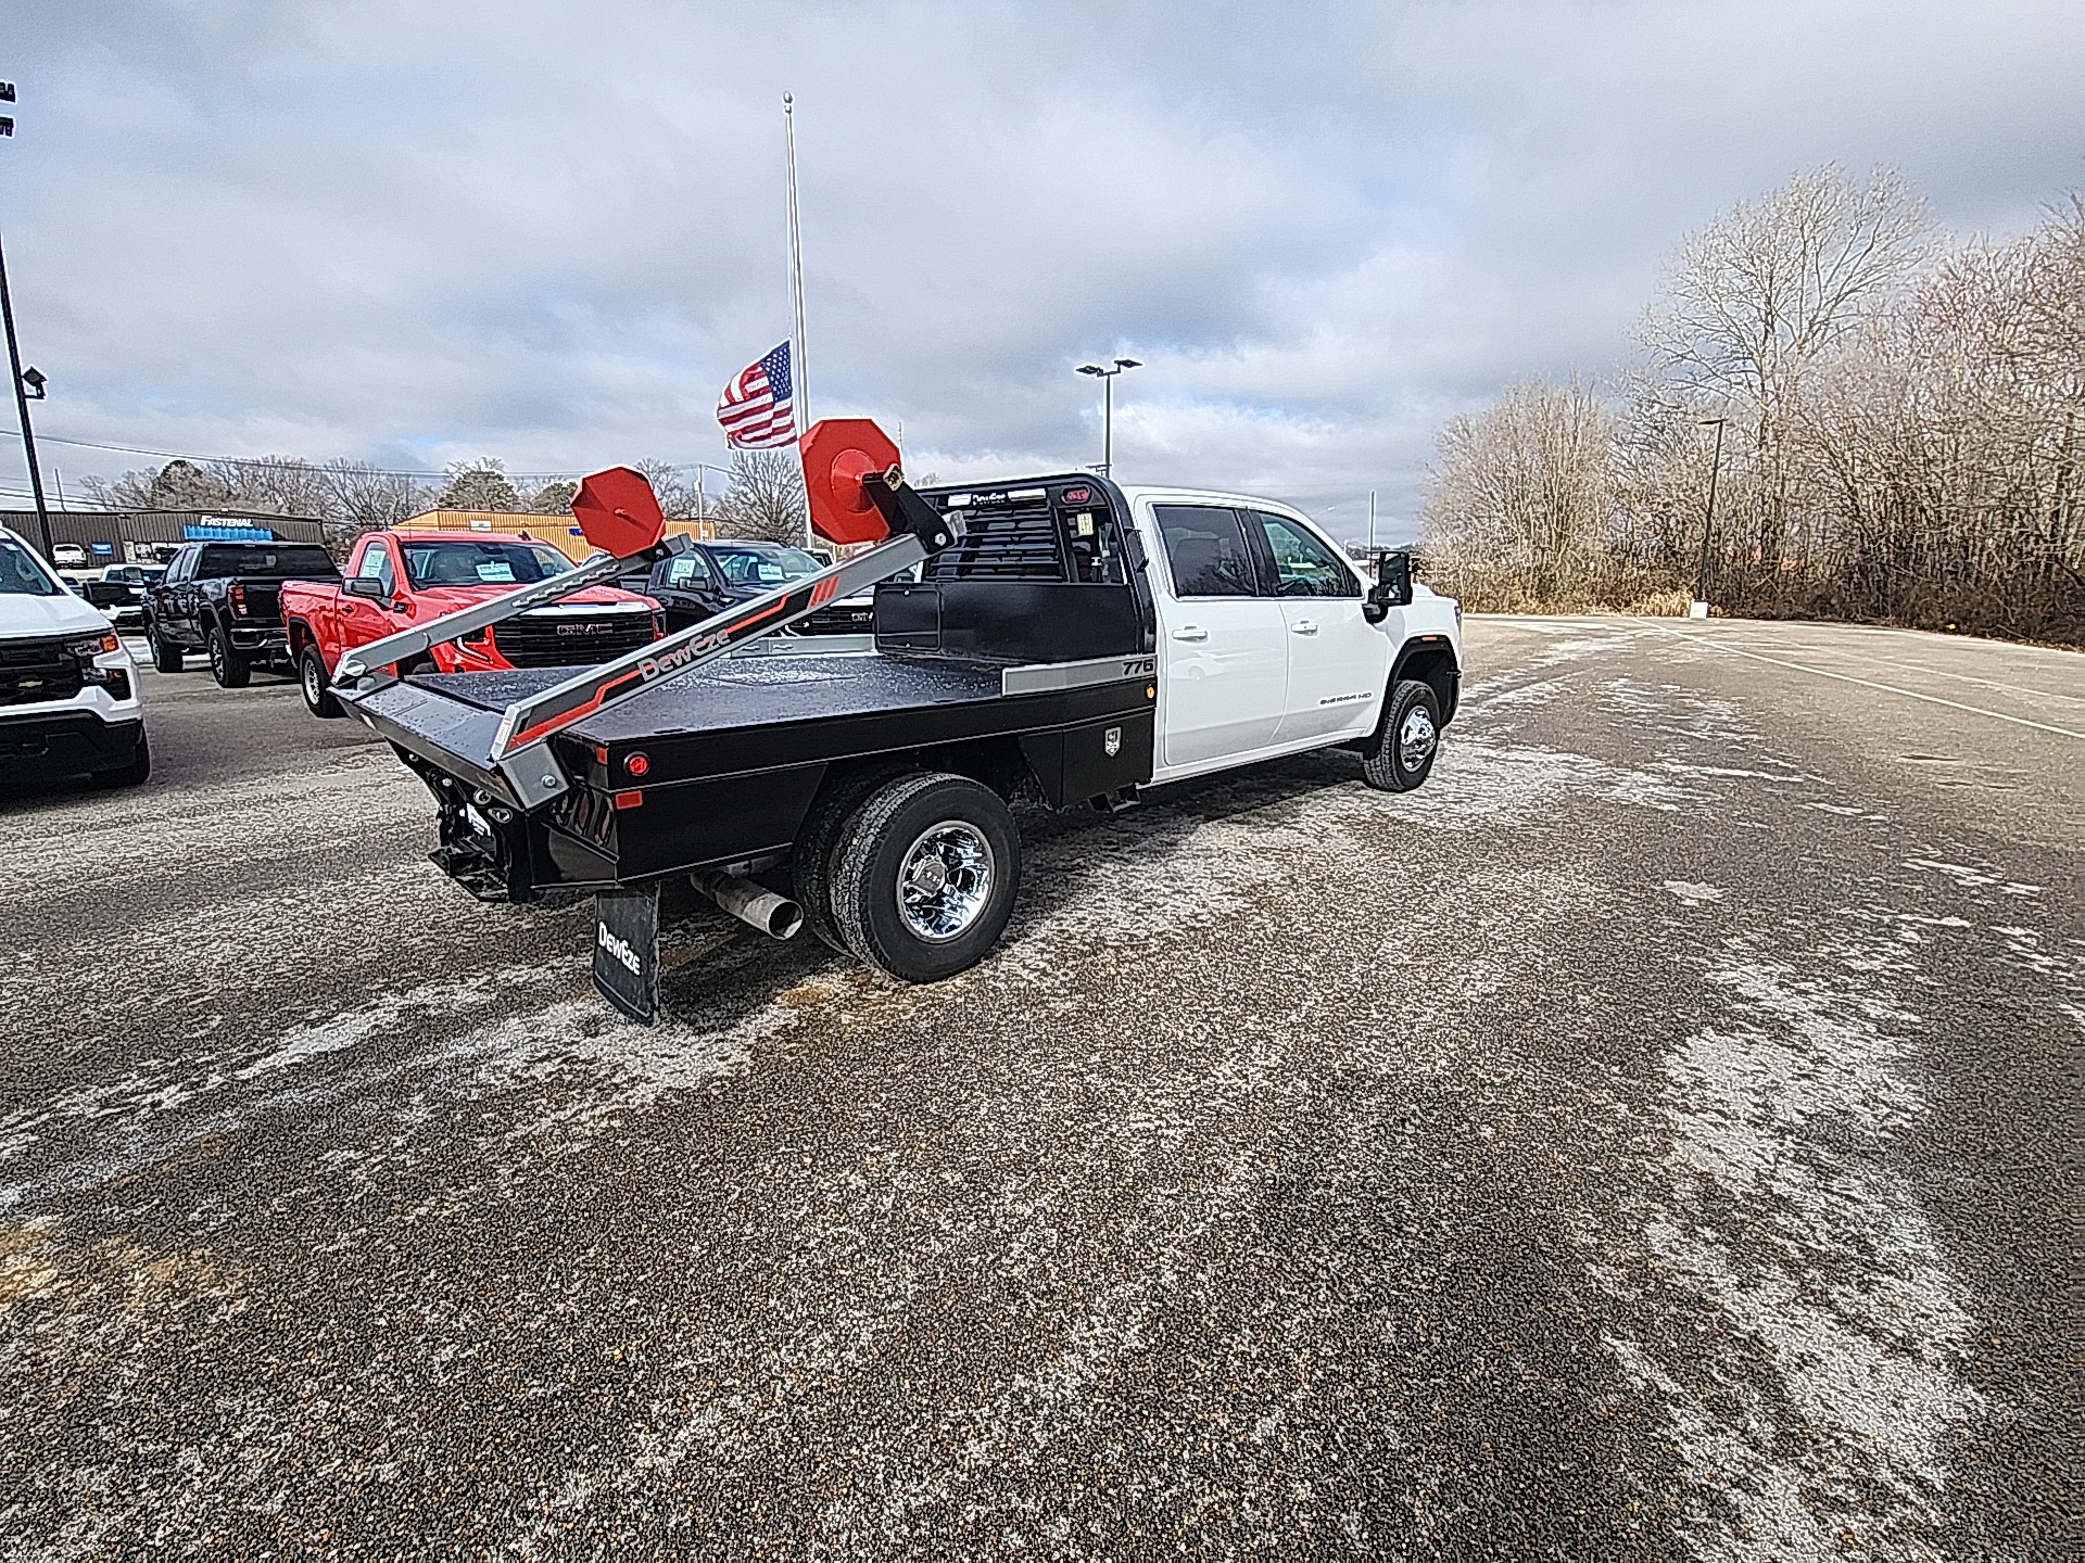
[[[382,640],[567,569],[571,561],[557,548],[517,534],[365,534],[348,554],[348,569],[338,586],[284,584],[281,615],[304,704],[315,717],[342,715],[329,686],[350,646]],[[661,627],[659,604],[648,596],[592,586],[553,606],[482,629],[475,638],[442,642],[427,656],[442,673],[584,667],[657,640]]]

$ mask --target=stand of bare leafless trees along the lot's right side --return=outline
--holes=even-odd
[[[2085,198],[1941,252],[1893,175],[1804,175],[1681,246],[1647,338],[1612,404],[1443,427],[1428,563],[1472,606],[1685,602],[1720,413],[1720,611],[2085,642]]]

